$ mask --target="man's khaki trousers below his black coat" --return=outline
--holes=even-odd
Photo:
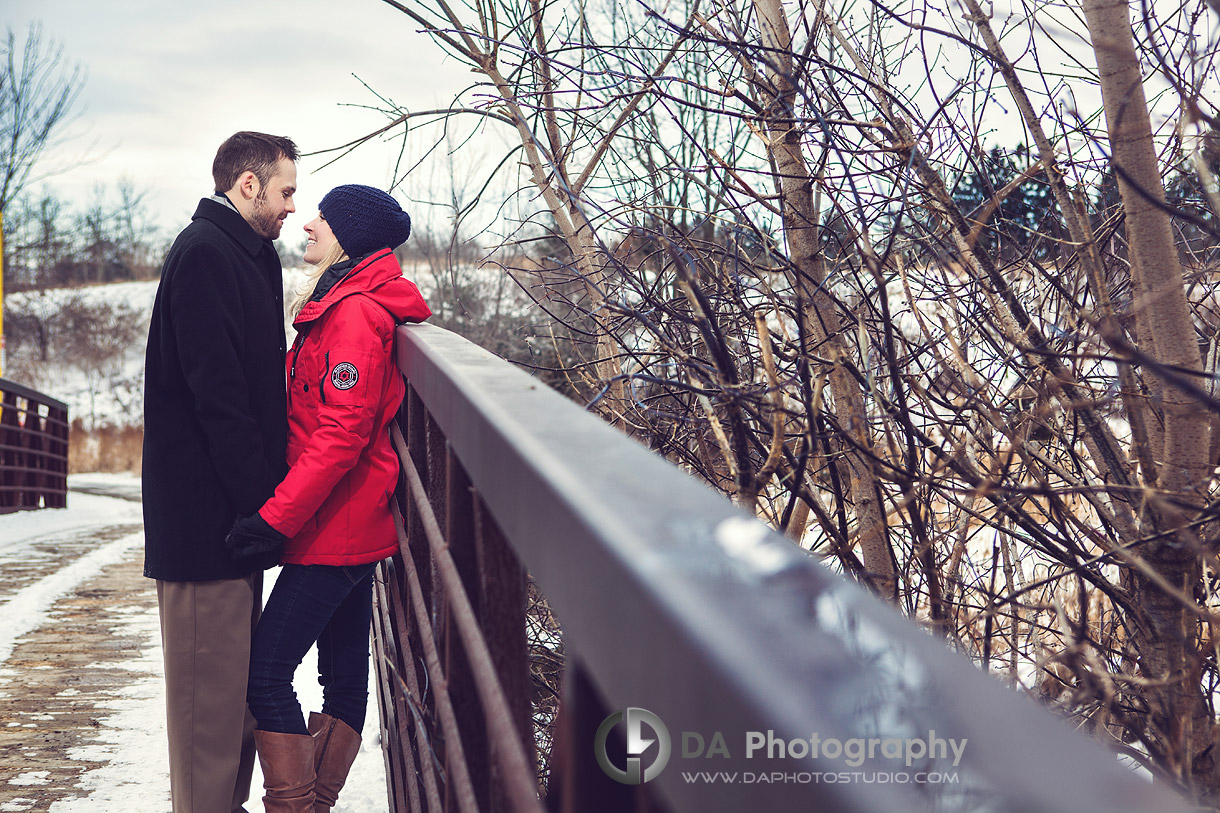
[[[254,717],[245,706],[262,573],[157,581],[173,813],[232,813],[250,797]]]

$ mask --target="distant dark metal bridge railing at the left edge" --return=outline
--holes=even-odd
[[[67,404],[0,378],[0,514],[66,507],[67,477]]]

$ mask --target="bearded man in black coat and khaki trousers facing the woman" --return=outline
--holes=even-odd
[[[245,706],[262,566],[234,562],[233,521],[285,472],[283,272],[296,145],[242,132],[216,153],[161,269],[144,378],[144,575],[156,579],[173,813],[243,811],[254,770]]]

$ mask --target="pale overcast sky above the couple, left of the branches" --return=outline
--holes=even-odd
[[[88,160],[46,183],[70,200],[121,177],[146,190],[156,222],[176,233],[211,190],[216,148],[239,129],[293,138],[301,151],[337,146],[386,122],[342,106],[377,100],[353,73],[407,109],[448,104],[471,81],[417,26],[379,0],[0,0],[24,40],[29,21],[88,71],[73,138],[46,166]],[[400,133],[401,131],[399,131]],[[299,165],[290,244],[339,183],[386,188],[398,142],[368,144],[334,166]],[[420,177],[427,177],[423,172]],[[398,194],[426,197],[410,189]]]

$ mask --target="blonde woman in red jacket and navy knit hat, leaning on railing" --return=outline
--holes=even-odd
[[[389,421],[405,386],[394,331],[432,311],[393,248],[411,219],[384,192],[332,189],[305,226],[315,272],[293,303],[284,481],[228,537],[234,555],[283,543],[250,652],[250,712],[268,813],[329,811],[360,748],[377,563],[398,549]],[[322,713],[309,725],[293,673],[317,643]]]

